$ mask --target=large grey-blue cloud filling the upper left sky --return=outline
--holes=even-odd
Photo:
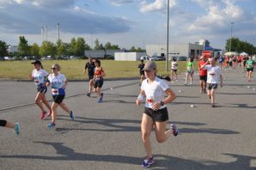
[[[73,0],[0,0],[0,6],[0,31],[5,33],[40,33],[43,25],[55,31],[57,22],[64,33],[125,33],[130,30],[128,20],[97,15],[77,7]]]

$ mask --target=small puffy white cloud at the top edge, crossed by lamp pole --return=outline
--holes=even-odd
[[[170,0],[169,1],[169,7],[173,8],[176,6],[177,2],[176,0]],[[141,8],[140,11],[142,13],[149,13],[149,12],[162,12],[166,11],[166,8],[168,6],[168,1],[167,0],[155,0],[153,3],[148,3],[147,1],[143,1],[141,3]]]

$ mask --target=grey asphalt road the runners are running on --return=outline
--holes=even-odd
[[[152,133],[156,162],[151,169],[256,169],[255,78],[248,83],[240,70],[222,70],[222,75],[216,108],[198,93],[198,77],[192,86],[182,85],[184,75],[179,82],[169,82],[178,96],[168,105],[169,118],[180,135],[159,144]],[[138,82],[105,82],[101,104],[94,95],[85,95],[87,86],[70,82],[65,102],[76,121],[58,109],[57,127],[49,131],[50,119],[40,120],[34,105],[34,83],[0,82],[0,118],[21,124],[20,137],[0,128],[0,169],[142,169]],[[52,99],[50,93],[47,99]]]

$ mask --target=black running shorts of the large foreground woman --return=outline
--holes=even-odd
[[[144,113],[147,114],[154,122],[165,122],[168,118],[168,108],[164,107],[157,111],[152,110],[149,107],[145,107]]]

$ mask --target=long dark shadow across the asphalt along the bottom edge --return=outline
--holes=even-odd
[[[125,156],[125,155],[92,155],[86,153],[76,152],[64,143],[50,143],[50,142],[34,142],[43,145],[48,145],[56,150],[58,156],[47,155],[0,155],[0,158],[9,159],[31,159],[31,160],[45,160],[45,161],[99,161],[99,162],[113,162],[132,164],[140,167],[143,158]],[[235,158],[232,162],[218,162],[218,161],[194,161],[183,159],[168,155],[155,155],[155,164],[151,169],[165,169],[165,170],[198,170],[198,169],[212,169],[212,170],[253,170],[255,167],[250,167],[251,161],[256,157],[249,155],[234,155],[223,153],[222,155]]]

